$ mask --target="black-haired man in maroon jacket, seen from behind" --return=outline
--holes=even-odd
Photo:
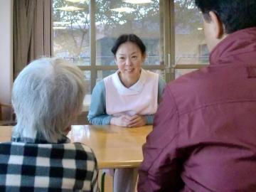
[[[256,1],[196,5],[210,65],[166,86],[139,192],[256,191]]]

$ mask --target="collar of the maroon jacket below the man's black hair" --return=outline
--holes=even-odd
[[[256,51],[256,27],[245,28],[228,35],[210,53],[210,64],[230,63],[230,57]]]

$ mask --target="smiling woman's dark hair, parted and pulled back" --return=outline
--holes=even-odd
[[[119,48],[119,46],[122,43],[126,43],[128,41],[135,43],[139,47],[139,49],[142,51],[142,55],[146,53],[146,46],[144,45],[142,40],[134,34],[123,34],[119,36],[119,38],[117,38],[117,40],[114,42],[114,46],[111,49],[112,53],[115,55],[117,53],[117,49]]]

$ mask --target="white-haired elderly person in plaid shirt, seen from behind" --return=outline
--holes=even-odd
[[[85,96],[79,68],[41,58],[14,82],[12,141],[0,144],[0,191],[99,191],[90,147],[66,135]]]

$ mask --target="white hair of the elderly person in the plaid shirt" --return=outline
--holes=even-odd
[[[14,137],[43,134],[58,142],[82,110],[82,71],[60,58],[41,58],[26,66],[14,81],[12,103],[17,124]]]

